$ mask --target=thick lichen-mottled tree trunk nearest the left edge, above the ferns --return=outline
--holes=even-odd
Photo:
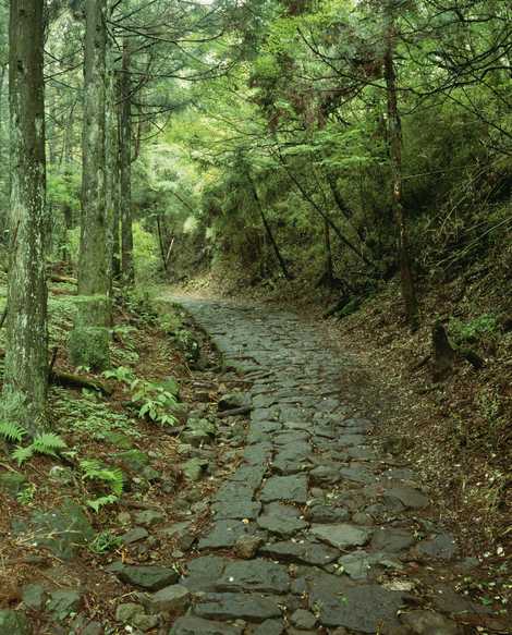
[[[13,395],[15,415],[32,433],[44,426],[48,387],[42,5],[11,0],[9,34],[12,242],[4,395]]]

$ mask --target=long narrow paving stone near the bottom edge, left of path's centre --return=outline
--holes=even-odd
[[[258,594],[207,594],[199,599],[194,612],[199,618],[211,620],[241,619],[248,622],[281,616],[278,600]]]

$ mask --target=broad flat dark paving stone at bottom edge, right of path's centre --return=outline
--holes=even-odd
[[[402,594],[388,591],[378,585],[349,587],[342,594],[310,588],[309,605],[319,608],[319,620],[325,626],[344,626],[362,633],[380,633],[398,625],[397,612],[402,606]]]

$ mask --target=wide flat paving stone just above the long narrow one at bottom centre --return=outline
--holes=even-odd
[[[266,560],[230,562],[216,588],[220,591],[258,591],[285,594],[290,576],[282,564]]]

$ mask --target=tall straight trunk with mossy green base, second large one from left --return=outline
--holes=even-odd
[[[75,327],[69,340],[75,366],[109,366],[111,322],[109,223],[106,209],[107,0],[85,0],[82,225]]]

